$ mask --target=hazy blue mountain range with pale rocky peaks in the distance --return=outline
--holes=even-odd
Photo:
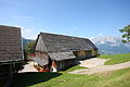
[[[101,54],[120,54],[130,52],[130,44],[121,42],[120,37],[99,36],[91,38],[91,41],[99,48]]]

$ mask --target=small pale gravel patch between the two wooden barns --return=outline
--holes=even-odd
[[[20,71],[20,73],[24,72],[38,72],[38,71],[34,67],[34,62],[28,62],[28,64],[24,65],[24,70]]]

